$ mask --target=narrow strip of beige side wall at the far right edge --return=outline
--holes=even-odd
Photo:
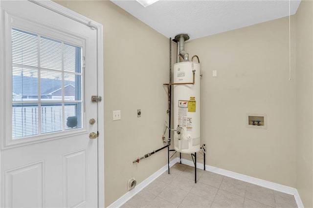
[[[313,207],[313,1],[302,0],[296,13],[297,189]]]

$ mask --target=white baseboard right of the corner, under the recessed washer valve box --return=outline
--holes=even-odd
[[[176,158],[176,159],[179,161],[179,158]],[[186,160],[186,159],[181,159],[181,163],[185,164],[185,165],[188,165],[188,166],[194,166],[194,162],[193,161]],[[197,163],[197,168],[203,169],[203,164]],[[258,186],[261,186],[261,187],[266,187],[266,188],[269,188],[269,189],[272,189],[272,190],[276,190],[276,191],[280,191],[280,192],[283,192],[283,193],[291,194],[291,195],[294,196],[294,199],[295,199],[295,202],[297,203],[298,208],[303,208],[304,207],[303,204],[302,204],[301,198],[299,196],[299,193],[298,193],[296,188],[287,187],[287,186],[284,186],[284,185],[276,184],[276,183],[273,183],[273,182],[265,181],[265,180],[262,180],[262,179],[250,177],[250,176],[247,176],[247,175],[243,175],[243,174],[240,174],[240,173],[236,173],[236,172],[232,172],[232,171],[229,171],[229,170],[225,170],[225,169],[218,168],[218,167],[213,167],[213,166],[208,166],[208,165],[205,165],[205,170],[211,171],[211,172],[214,172],[214,173],[217,173],[217,174],[220,174],[220,175],[224,175],[224,176],[227,176],[227,177],[230,177],[230,178],[234,178],[234,179],[238,179],[238,180],[241,180],[241,181],[245,181],[245,182],[248,182],[250,184],[255,184],[255,185],[258,185]]]

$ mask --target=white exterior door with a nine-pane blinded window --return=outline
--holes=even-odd
[[[97,33],[0,1],[0,206],[97,207]]]

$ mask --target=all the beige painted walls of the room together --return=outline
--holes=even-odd
[[[136,165],[132,161],[163,146],[168,39],[110,1],[56,2],[104,26],[108,206],[127,192],[129,178],[140,183],[167,163],[166,150]],[[302,2],[291,17],[291,80],[288,18],[185,44],[201,61],[201,142],[207,145],[207,164],[297,187],[306,207],[313,207],[312,7],[312,1]],[[121,121],[112,122],[112,110],[122,111]],[[246,113],[267,114],[268,128],[247,128]]]

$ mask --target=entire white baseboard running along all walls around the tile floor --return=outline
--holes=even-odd
[[[176,163],[179,163],[179,157],[174,158],[170,162],[170,167],[174,166]],[[188,165],[188,166],[194,166],[193,161],[186,160],[186,159],[181,159],[181,163],[185,164],[185,165]],[[197,163],[197,168],[203,169],[203,164]],[[159,177],[166,170],[167,170],[167,165],[165,165],[162,168],[160,168],[158,171],[156,171],[154,174],[152,174],[146,180],[144,180],[143,182],[138,184],[136,187],[134,187],[133,190],[127,192],[122,197],[120,197],[118,200],[113,202],[108,208],[119,208],[119,207],[121,207],[129,199],[131,199],[134,195],[136,195],[144,187],[148,186],[151,182],[153,182],[157,177]],[[261,187],[266,187],[266,188],[270,188],[272,190],[276,190],[276,191],[280,191],[280,192],[283,192],[283,193],[291,194],[291,195],[294,196],[294,199],[295,199],[295,202],[297,203],[298,208],[304,208],[304,206],[302,204],[302,201],[301,201],[301,198],[300,198],[299,193],[298,193],[296,188],[287,187],[287,186],[284,186],[284,185],[276,184],[276,183],[265,181],[265,180],[258,179],[258,178],[253,178],[253,177],[246,176],[246,175],[243,175],[243,174],[240,174],[240,173],[236,173],[236,172],[232,172],[232,171],[229,171],[229,170],[225,170],[225,169],[218,168],[218,167],[213,167],[213,166],[208,166],[208,165],[205,165],[205,170],[211,171],[211,172],[214,172],[214,173],[217,173],[217,174],[220,174],[220,175],[224,175],[224,176],[227,176],[227,177],[230,177],[230,178],[234,178],[234,179],[238,179],[238,180],[241,180],[241,181],[245,181],[245,182],[248,182],[250,184],[255,184],[255,185],[258,185],[258,186],[261,186]]]

